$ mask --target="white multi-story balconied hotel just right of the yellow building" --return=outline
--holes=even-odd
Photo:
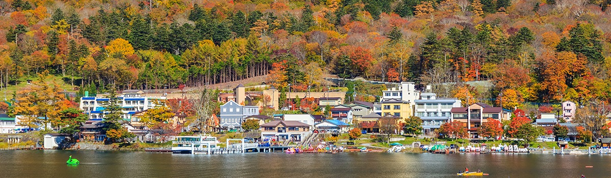
[[[433,135],[435,129],[452,119],[452,108],[461,107],[456,98],[437,98],[435,93],[422,93],[415,102],[414,115],[422,119],[422,133]]]

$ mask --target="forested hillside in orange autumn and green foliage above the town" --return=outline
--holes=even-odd
[[[0,82],[46,70],[81,87],[156,89],[269,74],[276,88],[303,91],[326,88],[330,73],[507,108],[609,101],[610,2],[0,1]],[[472,80],[495,86],[462,84]]]

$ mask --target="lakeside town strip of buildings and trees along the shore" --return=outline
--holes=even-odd
[[[430,85],[414,82],[328,80],[338,85],[380,85],[382,94],[378,102],[366,102],[358,101],[356,90],[280,93],[269,85],[242,84],[233,90],[183,93],[123,90],[89,96],[85,91],[78,109],[62,110],[53,121],[2,116],[2,146],[190,154],[610,152],[611,138],[606,135],[611,121],[604,113],[608,105],[564,101],[510,110],[500,106],[502,100],[493,106],[437,98]],[[34,85],[45,88],[46,84]],[[207,113],[209,117],[197,117]]]

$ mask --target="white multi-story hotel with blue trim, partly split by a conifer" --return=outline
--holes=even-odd
[[[147,109],[152,109],[156,105],[156,100],[165,100],[165,96],[151,98],[141,96],[144,93],[142,90],[123,90],[119,105],[123,108],[123,119],[130,119],[130,116],[136,112],[141,112]],[[89,115],[89,119],[102,120],[104,118],[104,103],[109,101],[104,97],[81,97],[79,108],[84,110],[84,113]]]

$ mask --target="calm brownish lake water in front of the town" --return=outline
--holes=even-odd
[[[68,166],[68,156],[81,165]],[[611,177],[611,155],[0,151],[0,177]],[[593,166],[593,168],[585,168]]]

